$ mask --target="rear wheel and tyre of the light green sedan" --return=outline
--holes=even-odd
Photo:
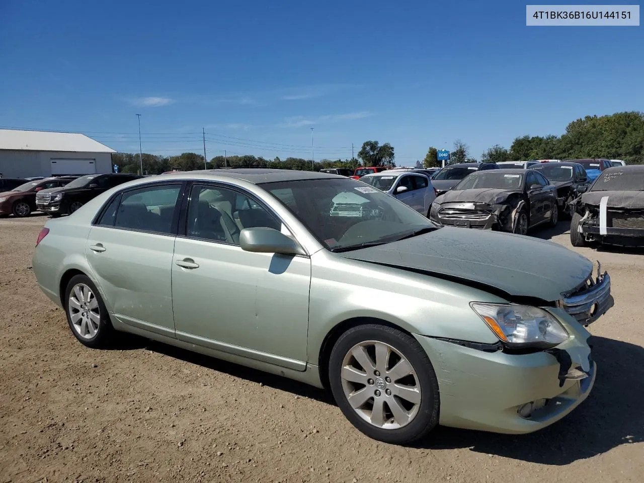
[[[88,276],[73,276],[65,290],[65,314],[71,333],[85,346],[109,346],[114,329],[99,290]]]

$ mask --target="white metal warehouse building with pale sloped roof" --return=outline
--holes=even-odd
[[[0,129],[0,177],[111,173],[116,152],[79,133]]]

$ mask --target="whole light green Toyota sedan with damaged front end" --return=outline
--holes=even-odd
[[[131,181],[48,220],[33,271],[86,346],[129,332],[328,388],[386,442],[437,424],[529,433],[588,397],[606,272],[365,187],[266,169]],[[332,216],[355,196],[364,218]]]

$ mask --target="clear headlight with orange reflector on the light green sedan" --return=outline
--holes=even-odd
[[[568,339],[568,333],[557,319],[538,307],[490,303],[472,303],[471,307],[510,347],[551,348]]]

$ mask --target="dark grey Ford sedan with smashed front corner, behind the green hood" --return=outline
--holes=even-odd
[[[440,225],[525,235],[531,227],[558,222],[556,187],[532,169],[478,171],[431,204]]]

